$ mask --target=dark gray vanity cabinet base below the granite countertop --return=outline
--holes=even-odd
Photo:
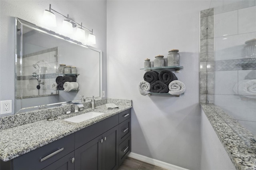
[[[131,152],[128,109],[12,160],[0,170],[116,170]]]

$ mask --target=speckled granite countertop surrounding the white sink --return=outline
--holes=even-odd
[[[0,130],[0,159],[8,161],[64,136],[72,134],[85,127],[98,123],[108,117],[112,117],[122,111],[132,108],[130,105],[118,105],[119,109],[108,110],[105,105],[58,116],[55,121],[36,121],[25,125]],[[103,115],[89,119],[81,123],[72,123],[63,119],[87,113],[90,111],[102,112]]]

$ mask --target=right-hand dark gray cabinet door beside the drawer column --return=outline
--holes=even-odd
[[[102,134],[102,169],[118,168],[118,126]]]

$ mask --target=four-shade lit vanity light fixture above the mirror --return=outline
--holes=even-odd
[[[49,10],[44,11],[43,22],[44,22],[45,26],[56,27],[56,17],[55,17],[55,14],[52,11],[54,11],[57,14],[63,16],[64,18],[66,18],[62,23],[63,32],[72,33],[72,28],[75,28],[78,25],[78,26],[80,26],[76,30],[76,37],[78,38],[78,40],[80,42],[84,42],[84,40],[85,40],[85,31],[84,31],[84,29],[86,29],[89,32],[91,32],[88,35],[88,43],[91,43],[91,44],[96,43],[96,38],[95,38],[95,36],[92,32],[93,30],[89,30],[88,28],[82,26],[82,23],[80,25],[77,22],[75,22],[74,20],[71,20],[68,16],[66,17],[63,14],[60,14],[59,12],[57,12],[56,10],[51,8],[51,4],[50,4],[50,7],[49,7]]]

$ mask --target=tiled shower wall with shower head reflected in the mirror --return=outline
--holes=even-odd
[[[35,69],[33,65],[40,60],[44,60],[44,62],[38,63],[41,67],[40,79],[41,82],[44,82],[44,85],[40,85],[40,95],[56,94],[56,91],[52,90],[51,85],[56,79],[56,69],[58,68],[57,56],[58,47],[22,56],[22,69],[20,65],[17,65],[17,70],[22,70],[22,74],[20,74],[21,71],[17,71],[16,98],[38,96],[38,89],[36,88],[38,81],[32,76],[32,73],[39,74],[39,69]],[[20,58],[18,58],[17,63],[20,63]]]

